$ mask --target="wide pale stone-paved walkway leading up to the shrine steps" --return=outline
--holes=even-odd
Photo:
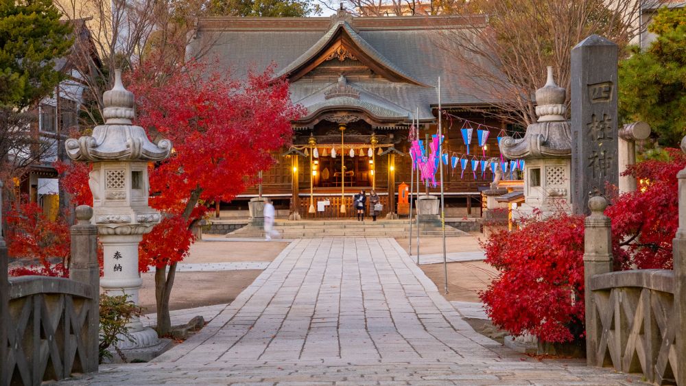
[[[66,384],[636,385],[475,333],[393,239],[302,239],[154,363]]]

